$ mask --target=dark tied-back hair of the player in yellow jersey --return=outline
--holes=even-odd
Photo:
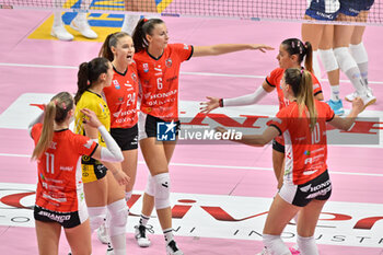
[[[94,58],[90,62],[83,62],[80,65],[78,72],[78,91],[74,96],[74,103],[80,101],[81,95],[91,88],[92,84],[98,80],[102,73],[106,73],[108,70],[108,62],[106,58]]]

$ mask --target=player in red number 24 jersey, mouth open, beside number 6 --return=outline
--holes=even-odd
[[[112,85],[104,88],[103,93],[111,111],[111,135],[123,151],[123,171],[130,177],[130,182],[125,187],[127,201],[131,197],[135,185],[138,157],[139,88],[134,55],[132,38],[125,32],[109,34],[100,50],[101,57],[112,61],[114,70]],[[104,224],[97,230],[97,236],[103,243],[107,243],[106,232]]]

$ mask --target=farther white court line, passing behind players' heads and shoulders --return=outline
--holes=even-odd
[[[0,62],[0,67],[30,67],[30,68],[55,68],[55,69],[78,69],[72,66],[51,66],[51,65],[34,65],[34,63],[11,63]],[[202,77],[234,77],[234,78],[249,78],[249,79],[265,79],[265,76],[249,76],[249,74],[232,74],[232,73],[217,73],[217,72],[183,72],[184,76],[202,76]],[[327,79],[320,79],[321,81],[328,81]],[[339,80],[340,82],[351,83],[349,80]],[[370,81],[369,84],[383,84],[383,81]]]

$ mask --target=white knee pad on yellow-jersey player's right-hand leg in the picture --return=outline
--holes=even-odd
[[[128,207],[125,198],[107,205],[107,209],[111,213],[109,235],[125,234],[128,219]]]

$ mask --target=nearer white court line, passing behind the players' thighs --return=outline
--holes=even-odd
[[[0,153],[0,157],[31,158],[30,154],[11,154],[11,153]],[[144,163],[144,161],[138,161],[138,164],[146,164],[146,163]],[[171,163],[170,165],[187,166],[187,167],[272,171],[271,167],[239,166],[239,165],[190,164],[190,163]],[[336,172],[336,171],[330,171],[330,173],[332,174],[340,174],[340,175],[383,177],[383,174],[351,173],[351,172]]]

